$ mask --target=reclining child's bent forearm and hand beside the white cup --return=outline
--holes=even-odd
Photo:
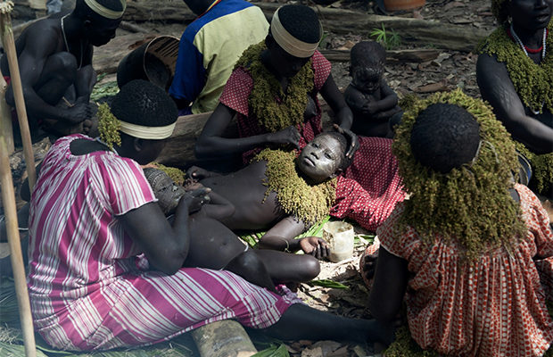
[[[327,257],[328,245],[322,238],[295,239],[305,228],[307,227],[301,220],[297,220],[293,216],[286,217],[260,238],[260,248],[289,252],[297,252],[301,249],[304,253],[311,254],[318,259]]]

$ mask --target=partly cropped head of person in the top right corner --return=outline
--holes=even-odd
[[[553,0],[491,0],[491,12],[500,24],[511,19],[516,27],[535,31],[551,21]]]

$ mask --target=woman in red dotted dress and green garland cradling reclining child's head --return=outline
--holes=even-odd
[[[347,199],[334,213],[338,217],[357,214],[356,220],[367,220],[364,227],[374,230],[404,197],[392,140],[358,140],[351,132],[351,110],[334,83],[330,62],[317,50],[321,36],[317,13],[310,7],[282,6],[273,16],[265,42],[251,46],[238,61],[218,107],[202,129],[195,154],[198,159],[239,154],[243,163],[249,163],[266,146],[301,148],[322,131],[320,93],[348,136],[347,156],[356,153],[338,179],[336,188]],[[238,137],[225,137],[235,115]],[[358,195],[360,190],[365,192]]]

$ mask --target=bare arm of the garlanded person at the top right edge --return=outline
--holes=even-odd
[[[483,99],[490,102],[497,118],[513,138],[536,154],[553,152],[553,128],[525,114],[504,63],[488,54],[480,54],[476,79]]]

